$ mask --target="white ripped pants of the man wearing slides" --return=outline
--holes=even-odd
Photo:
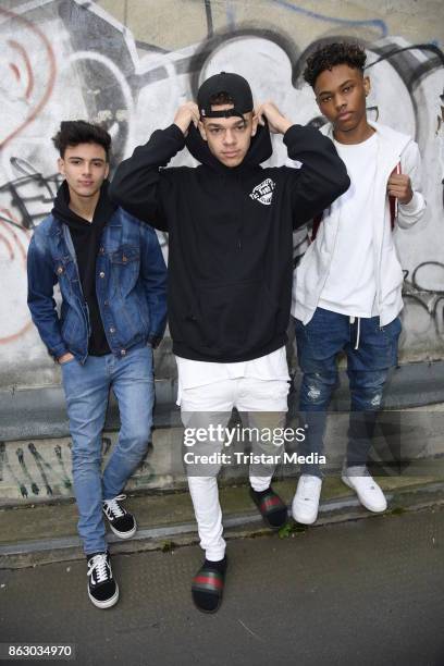
[[[283,428],[287,411],[288,382],[284,380],[258,380],[249,378],[227,379],[205,386],[183,388],[181,416],[185,428],[197,429],[209,425],[226,427],[232,409],[236,407],[243,422],[245,417],[251,428]],[[246,414],[245,414],[246,412]],[[244,423],[245,424],[245,423]],[[278,456],[280,449],[270,442],[251,442],[256,452]],[[221,452],[223,437],[218,441],[199,443],[199,451],[210,455]],[[282,451],[282,447],[281,447]],[[254,490],[267,490],[274,473],[275,465],[251,465],[249,479]],[[219,504],[217,474],[220,465],[206,467],[207,476],[195,476],[187,468],[188,486],[192,495],[200,546],[207,559],[217,562],[225,554],[222,536],[222,510]]]

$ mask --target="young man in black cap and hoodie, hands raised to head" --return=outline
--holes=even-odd
[[[215,478],[222,458],[203,467],[199,456],[220,453],[223,434],[214,436],[214,429],[226,425],[233,407],[259,430],[283,425],[292,232],[349,184],[333,144],[317,130],[293,125],[272,102],[252,110],[245,78],[211,76],[197,104],[180,107],[170,127],[120,165],[111,186],[123,208],[170,233],[169,323],[185,443],[194,443],[188,435],[198,428],[207,431],[194,443],[194,457],[185,458],[206,551],[193,599],[207,613],[220,606],[226,570]],[[268,127],[284,135],[299,170],[260,166],[272,153]],[[200,165],[163,169],[185,145]],[[287,509],[270,486],[278,448],[260,436],[252,444],[275,454],[250,466],[250,493],[267,523],[279,529]]]

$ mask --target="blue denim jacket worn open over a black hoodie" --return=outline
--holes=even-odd
[[[52,214],[35,230],[27,256],[28,307],[54,359],[71,351],[85,362],[90,323],[71,233]],[[60,318],[53,298],[59,282]],[[163,335],[166,267],[153,229],[121,208],[107,223],[96,261],[96,292],[110,349],[125,356]]]

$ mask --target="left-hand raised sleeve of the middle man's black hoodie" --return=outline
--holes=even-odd
[[[161,231],[168,231],[163,201],[169,194],[168,172],[162,170],[185,146],[177,125],[157,130],[145,146],[118,168],[109,188],[110,198],[128,213]]]

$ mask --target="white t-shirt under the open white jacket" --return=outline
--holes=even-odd
[[[347,166],[350,187],[332,206],[340,207],[335,248],[319,307],[350,317],[374,317],[373,184],[378,165],[374,133],[361,144],[334,141]]]

